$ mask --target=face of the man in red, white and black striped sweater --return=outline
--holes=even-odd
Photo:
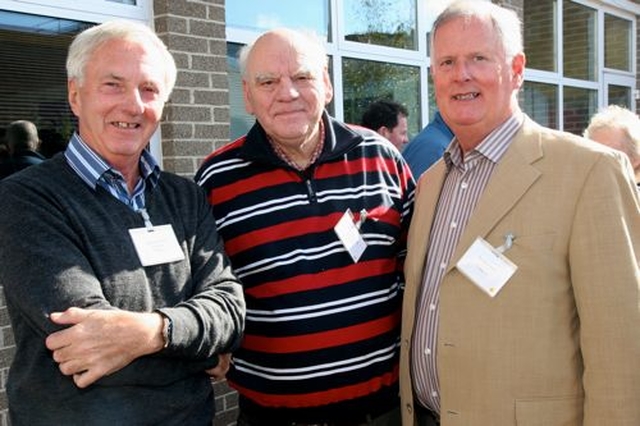
[[[247,112],[284,149],[314,140],[333,89],[329,74],[301,35],[274,31],[260,37],[247,58],[243,91]]]

